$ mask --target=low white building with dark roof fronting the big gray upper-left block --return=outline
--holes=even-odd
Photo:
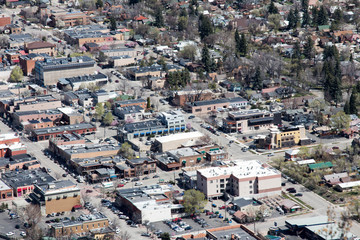
[[[71,89],[77,91],[80,87],[86,88],[89,84],[103,85],[108,81],[108,77],[103,73],[86,74],[82,76],[60,78],[58,86],[60,89]]]

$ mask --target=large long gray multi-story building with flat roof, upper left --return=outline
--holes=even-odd
[[[40,85],[56,85],[60,78],[93,74],[95,70],[95,61],[87,56],[45,58],[35,63],[35,79]]]

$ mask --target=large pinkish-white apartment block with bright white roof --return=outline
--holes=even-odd
[[[257,160],[234,161],[235,166],[197,170],[197,189],[207,198],[226,193],[237,197],[262,197],[281,193],[281,173]]]

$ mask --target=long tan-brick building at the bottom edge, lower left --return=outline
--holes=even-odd
[[[98,231],[107,231],[108,236],[114,235],[114,230],[109,228],[109,219],[102,213],[81,215],[77,220],[67,220],[51,225],[51,233],[55,238],[62,238],[74,234],[84,235],[87,233],[96,234]],[[94,238],[102,239],[102,238]]]

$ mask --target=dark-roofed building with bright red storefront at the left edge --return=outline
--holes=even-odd
[[[14,197],[29,195],[37,185],[55,181],[47,172],[40,169],[9,171],[1,174],[1,180],[12,188]]]

